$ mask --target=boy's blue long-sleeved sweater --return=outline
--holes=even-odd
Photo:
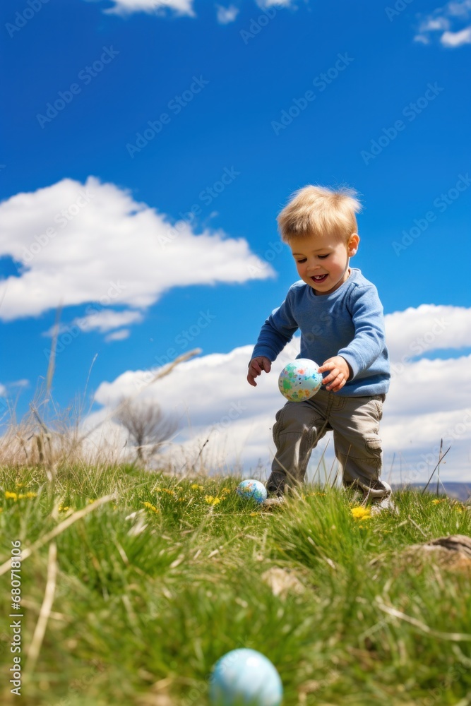
[[[263,355],[275,360],[299,328],[299,358],[322,365],[340,355],[349,364],[350,378],[335,395],[387,393],[390,367],[383,306],[376,287],[360,270],[351,270],[347,281],[332,294],[316,295],[302,280],[294,282],[285,301],[263,324],[252,358]]]

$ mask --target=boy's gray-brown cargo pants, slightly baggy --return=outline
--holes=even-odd
[[[326,431],[333,431],[335,456],[340,462],[344,486],[359,486],[375,496],[390,493],[380,480],[381,438],[379,422],[386,395],[341,397],[321,388],[311,400],[287,402],[276,414],[273,441],[276,454],[267,482],[271,493],[282,493],[304,481],[311,451]]]

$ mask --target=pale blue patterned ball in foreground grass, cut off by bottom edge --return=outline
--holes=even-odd
[[[246,647],[227,652],[210,676],[213,706],[279,706],[282,695],[280,675],[268,657]]]

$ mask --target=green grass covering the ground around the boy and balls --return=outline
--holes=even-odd
[[[470,508],[405,491],[400,515],[358,520],[343,491],[306,487],[304,498],[267,512],[239,498],[237,482],[66,467],[49,484],[40,469],[0,469],[1,563],[12,540],[24,551],[73,510],[116,493],[53,540],[54,603],[23,704],[208,704],[211,667],[237,647],[275,664],[285,706],[471,704],[469,576],[400,556],[426,537],[471,535]],[[5,497],[28,491],[37,496]],[[48,549],[34,549],[21,568],[23,669]],[[262,578],[273,567],[295,575],[299,590],[275,595]],[[2,703],[16,699],[6,676],[10,604],[8,570]]]

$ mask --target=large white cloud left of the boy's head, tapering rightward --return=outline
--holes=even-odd
[[[208,228],[196,235],[185,221],[172,227],[165,214],[95,177],[0,203],[2,255],[23,263],[19,277],[0,280],[4,321],[88,302],[145,309],[172,287],[274,274],[246,240]]]

